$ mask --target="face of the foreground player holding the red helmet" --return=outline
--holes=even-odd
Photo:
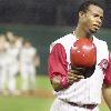
[[[95,33],[102,26],[103,10],[100,7],[91,4],[83,17],[85,31]]]

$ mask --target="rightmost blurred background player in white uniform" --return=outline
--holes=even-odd
[[[37,50],[26,40],[20,52],[20,73],[22,78],[22,91],[36,89],[36,54]]]

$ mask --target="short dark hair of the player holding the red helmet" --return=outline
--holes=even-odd
[[[79,8],[79,10],[78,10],[78,14],[79,14],[80,11],[87,12],[88,9],[89,9],[89,6],[91,6],[91,4],[97,6],[97,7],[100,7],[101,9],[103,9],[103,7],[102,7],[99,2],[97,2],[97,1],[94,1],[94,0],[90,0],[90,1],[83,2],[83,3],[80,6],[80,8]]]

